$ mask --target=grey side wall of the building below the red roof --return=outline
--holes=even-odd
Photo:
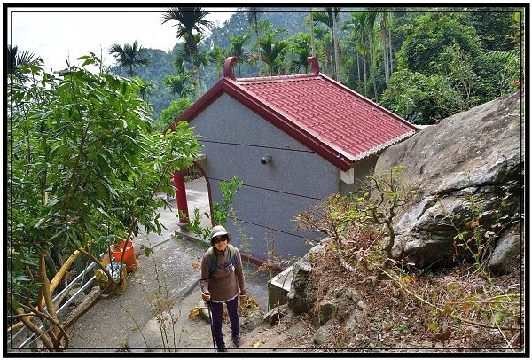
[[[222,202],[220,181],[244,183],[233,203],[239,221],[227,224],[233,243],[262,259],[271,247],[285,259],[306,254],[305,238],[321,236],[295,231],[293,218],[340,191],[338,169],[225,94],[190,124],[204,145],[212,200]],[[270,163],[262,164],[266,154]]]

